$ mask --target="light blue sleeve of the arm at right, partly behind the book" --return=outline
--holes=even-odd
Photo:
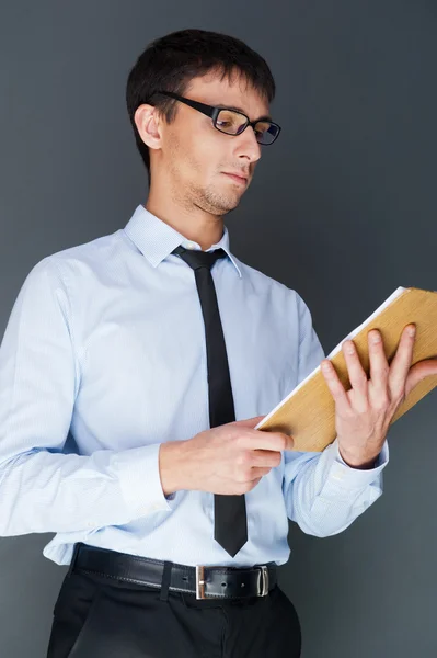
[[[298,383],[325,358],[311,313],[297,294],[299,318]],[[348,466],[337,439],[322,452],[286,451],[283,492],[287,515],[307,534],[324,537],[348,527],[382,494],[382,469],[389,461],[386,440],[373,468]]]

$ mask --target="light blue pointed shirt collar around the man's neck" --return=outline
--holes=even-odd
[[[152,215],[142,204],[135,208],[124,230],[153,268],[157,268],[180,245],[186,249],[200,249],[200,245],[185,238],[172,226]],[[211,245],[207,251],[220,247],[226,251],[241,279],[241,270],[229,250],[229,232],[226,226],[219,242]]]

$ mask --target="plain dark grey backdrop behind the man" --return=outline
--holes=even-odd
[[[436,290],[435,2],[3,2],[1,333],[37,261],[146,201],[125,82],[183,27],[233,34],[272,67],[283,133],[227,225],[239,258],[302,295],[325,352],[399,285]],[[290,527],[280,582],[303,658],[436,655],[436,395],[391,428],[384,494],[348,530]],[[5,658],[45,656],[67,571],[42,555],[51,536],[0,538]]]

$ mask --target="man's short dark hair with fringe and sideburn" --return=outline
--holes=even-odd
[[[127,79],[126,103],[149,184],[149,148],[135,125],[137,107],[143,103],[154,105],[170,124],[175,116],[177,101],[157,94],[157,91],[183,95],[193,78],[216,70],[221,73],[221,79],[226,76],[231,79],[237,70],[268,103],[275,97],[275,81],[265,59],[239,38],[227,34],[180,30],[153,41],[138,57]]]

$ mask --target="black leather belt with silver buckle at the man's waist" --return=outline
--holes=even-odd
[[[68,572],[95,574],[157,588],[161,588],[164,577],[169,590],[193,593],[196,599],[240,599],[268,594],[277,583],[276,570],[275,563],[253,567],[192,567],[78,542]]]

